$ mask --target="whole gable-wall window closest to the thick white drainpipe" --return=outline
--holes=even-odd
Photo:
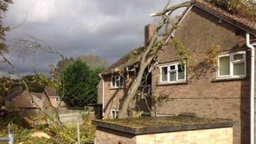
[[[217,78],[242,78],[246,76],[245,51],[220,55]]]

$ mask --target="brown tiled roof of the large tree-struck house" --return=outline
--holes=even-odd
[[[191,5],[193,5],[193,4],[194,4],[194,6],[199,7],[200,9],[203,9],[204,11],[214,14],[215,16],[218,16],[219,18],[222,18],[225,21],[228,21],[229,23],[236,25],[236,26],[256,35],[256,21],[252,21],[252,20],[249,20],[248,18],[243,18],[241,16],[231,14],[223,9],[220,9],[220,8],[218,8],[214,5],[211,5],[208,2],[204,2],[202,0],[194,0],[191,2]],[[187,9],[185,9],[185,11],[183,11],[181,18],[178,21],[181,21],[182,17],[185,16],[186,12],[189,10],[189,7],[191,7],[191,5],[188,6]],[[130,53],[133,53],[133,50]],[[112,73],[113,69],[127,63],[129,60],[130,53],[128,53],[127,55],[121,57],[119,60],[114,62],[114,64],[112,64],[111,66],[106,68],[102,74],[103,75],[110,74],[110,73]],[[134,63],[131,63],[130,65],[133,65],[133,64]]]

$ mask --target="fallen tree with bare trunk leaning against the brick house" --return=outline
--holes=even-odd
[[[187,7],[188,5],[190,5],[190,2],[183,2],[172,7],[169,7],[169,5],[170,1],[167,2],[163,11],[151,14],[151,16],[160,16],[160,20],[156,26],[156,30],[153,36],[151,37],[149,43],[145,43],[145,48],[143,49],[142,54],[135,59],[135,62],[139,62],[139,71],[137,73],[135,80],[133,80],[132,84],[130,85],[128,89],[128,94],[124,99],[123,104],[121,105],[121,112],[119,114],[119,118],[126,118],[128,116],[129,105],[133,98],[135,97],[135,95],[137,94],[139,86],[142,83],[142,78],[145,69],[150,67],[150,71],[148,71],[148,73],[150,73],[153,70],[155,66],[153,62],[155,61],[156,56],[158,55],[159,51],[163,48],[163,46],[167,45],[169,39],[171,38],[171,35],[169,34],[168,31],[169,25],[171,25],[171,31],[176,28],[176,24],[172,23],[169,16],[176,9],[179,9],[181,7]],[[161,33],[164,27],[166,29],[163,33]]]

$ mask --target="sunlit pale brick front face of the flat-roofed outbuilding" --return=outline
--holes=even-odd
[[[232,128],[189,130],[136,136],[136,144],[233,144]],[[125,144],[125,143],[124,143]]]

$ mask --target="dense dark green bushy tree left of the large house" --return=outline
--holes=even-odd
[[[97,101],[97,84],[100,80],[98,73],[102,69],[90,69],[90,67],[77,59],[64,71],[64,97],[63,101],[69,107],[83,108],[88,103]]]

